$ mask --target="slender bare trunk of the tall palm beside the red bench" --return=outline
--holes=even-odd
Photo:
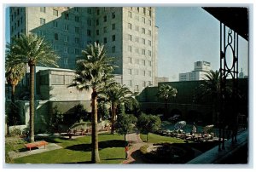
[[[29,134],[30,142],[34,142],[34,118],[35,118],[35,65],[30,65],[30,104],[29,104]]]

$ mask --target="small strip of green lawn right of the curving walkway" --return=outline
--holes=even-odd
[[[141,139],[143,141],[147,140],[147,135],[140,134]],[[153,133],[148,134],[148,142],[150,143],[159,143],[159,142],[172,142],[172,143],[184,143],[184,140],[177,139],[170,136],[162,136],[162,135],[155,135]]]

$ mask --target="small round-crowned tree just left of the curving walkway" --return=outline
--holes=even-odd
[[[125,136],[126,141],[126,135],[134,129],[134,124],[137,122],[137,118],[130,114],[120,114],[119,118],[117,118],[117,121],[115,123],[116,132],[119,135]]]

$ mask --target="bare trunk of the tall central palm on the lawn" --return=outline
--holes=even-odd
[[[91,94],[91,113],[92,113],[92,123],[91,123],[91,162],[100,163],[99,156],[99,146],[98,146],[98,133],[97,133],[97,92],[93,89]]]

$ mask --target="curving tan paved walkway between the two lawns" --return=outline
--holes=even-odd
[[[126,135],[126,140],[129,141],[131,146],[128,152],[128,158],[122,163],[145,163],[141,158],[139,149],[147,143],[143,143],[138,133]]]

